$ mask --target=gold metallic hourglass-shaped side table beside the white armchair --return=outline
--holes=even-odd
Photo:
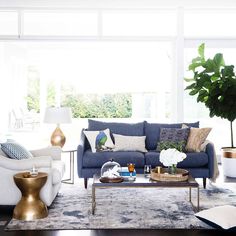
[[[22,193],[21,200],[15,206],[13,218],[35,220],[48,215],[47,206],[39,197],[39,192],[47,180],[47,173],[39,172],[36,177],[24,177],[27,172],[14,175],[16,186]]]

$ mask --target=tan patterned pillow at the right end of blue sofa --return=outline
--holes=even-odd
[[[183,128],[186,125],[182,126]],[[208,134],[212,128],[190,128],[186,151],[187,152],[201,152],[201,145],[206,141]]]

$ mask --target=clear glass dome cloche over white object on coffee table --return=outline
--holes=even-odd
[[[113,159],[103,164],[101,168],[101,177],[107,178],[118,178],[120,177],[120,164],[115,162]]]

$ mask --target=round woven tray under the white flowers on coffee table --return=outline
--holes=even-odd
[[[161,168],[161,172],[158,173],[158,168],[151,170],[151,179],[155,181],[166,182],[180,182],[187,181],[189,172],[185,169],[177,169],[176,174],[169,174],[167,168]]]

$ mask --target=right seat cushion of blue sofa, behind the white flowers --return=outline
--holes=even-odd
[[[198,168],[203,167],[208,164],[208,155],[205,152],[199,153],[186,153],[187,157],[182,161],[179,162],[177,167],[179,168]],[[155,166],[163,166],[159,160],[160,153],[150,151],[145,153],[145,159],[147,165]]]

